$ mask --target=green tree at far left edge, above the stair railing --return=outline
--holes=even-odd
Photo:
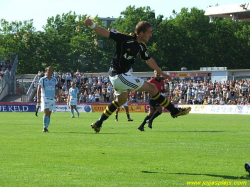
[[[36,36],[33,20],[22,22],[7,22],[1,20],[2,52],[18,55],[17,73],[31,73],[37,70],[39,57],[36,49],[40,45]]]

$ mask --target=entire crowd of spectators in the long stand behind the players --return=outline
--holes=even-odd
[[[39,72],[39,76],[44,76],[44,73]],[[79,103],[110,102],[115,97],[114,88],[109,77],[105,75],[88,77],[77,70],[66,73],[54,71],[54,77],[59,83],[62,102],[66,102],[71,81],[75,81],[79,88]],[[166,96],[176,104],[246,105],[250,103],[250,82],[244,79],[214,83],[211,80],[172,82],[165,80],[165,88],[169,90]],[[147,103],[148,100],[147,92],[129,93],[131,103]]]

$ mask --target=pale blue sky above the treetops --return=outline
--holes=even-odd
[[[0,19],[24,21],[33,19],[36,30],[43,30],[47,18],[57,14],[68,13],[87,14],[91,17],[119,17],[128,6],[150,6],[156,16],[165,18],[172,15],[172,11],[180,12],[181,8],[206,10],[209,6],[247,3],[240,0],[0,0]]]

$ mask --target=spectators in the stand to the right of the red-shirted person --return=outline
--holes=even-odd
[[[179,104],[246,105],[249,104],[248,80],[176,81],[168,83],[169,97]]]

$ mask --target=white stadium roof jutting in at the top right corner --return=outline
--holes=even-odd
[[[235,22],[250,21],[250,3],[209,7],[205,16],[210,17],[210,22],[214,21],[213,17],[228,18]]]

